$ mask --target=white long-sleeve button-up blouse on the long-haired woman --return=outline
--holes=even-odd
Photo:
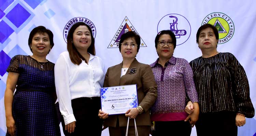
[[[71,100],[81,97],[100,97],[104,72],[101,58],[91,55],[88,64],[84,61],[76,65],[69,53],[62,52],[54,67],[57,101],[65,125],[76,121]],[[81,107],[85,108],[85,107]]]

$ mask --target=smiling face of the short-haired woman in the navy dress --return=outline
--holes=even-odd
[[[46,33],[36,33],[30,44],[33,55],[46,56],[51,48],[49,36]]]

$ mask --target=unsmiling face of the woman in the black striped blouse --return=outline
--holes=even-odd
[[[198,46],[201,50],[204,49],[216,49],[218,40],[212,30],[212,28],[208,27],[203,29],[198,38]]]

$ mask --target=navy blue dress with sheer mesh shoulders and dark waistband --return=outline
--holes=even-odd
[[[54,63],[16,55],[6,71],[19,73],[12,103],[15,136],[60,136]]]

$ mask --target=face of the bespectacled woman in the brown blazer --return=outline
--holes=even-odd
[[[128,46],[124,46],[123,44],[124,43],[127,43],[129,44]],[[136,44],[136,41],[135,39],[132,37],[132,38],[128,38],[128,39],[125,39],[121,45],[121,54],[123,56],[123,59],[128,59],[128,58],[135,58],[135,56],[137,55],[137,48],[138,46],[134,46],[132,47],[131,45],[132,44]]]

